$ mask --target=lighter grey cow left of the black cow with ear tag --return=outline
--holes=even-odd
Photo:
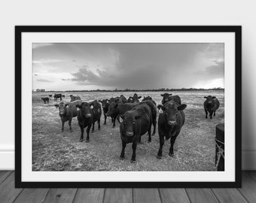
[[[62,132],[64,131],[64,124],[69,120],[69,130],[72,132],[72,118],[78,116],[76,105],[81,104],[81,101],[75,101],[65,104],[60,102],[59,105],[55,105],[56,108],[59,108],[59,117],[62,123]]]

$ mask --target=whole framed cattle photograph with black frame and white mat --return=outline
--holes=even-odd
[[[241,72],[241,26],[16,26],[16,186],[240,187]]]

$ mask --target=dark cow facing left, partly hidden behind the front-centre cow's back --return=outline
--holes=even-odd
[[[117,119],[118,115],[124,114],[126,111],[131,110],[133,107],[135,107],[138,104],[118,104],[116,102],[112,102],[108,107],[107,117],[113,117],[113,128],[115,127],[115,120]]]

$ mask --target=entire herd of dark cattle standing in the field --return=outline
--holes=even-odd
[[[62,100],[64,95],[55,94],[57,98]],[[50,96],[50,95],[49,95]],[[84,129],[87,136],[85,141],[90,141],[90,129],[94,131],[94,124],[98,124],[100,129],[100,119],[102,111],[104,114],[104,125],[106,125],[107,117],[111,117],[112,127],[115,127],[116,120],[120,123],[120,138],[122,141],[122,150],[120,159],[124,159],[126,144],[132,143],[133,154],[131,162],[136,161],[136,147],[141,143],[142,135],[148,135],[148,142],[151,142],[151,135],[155,135],[158,123],[158,134],[160,147],[157,153],[157,159],[163,156],[163,144],[170,139],[169,156],[173,156],[173,145],[181,132],[185,122],[184,109],[187,105],[181,103],[181,98],[178,95],[169,93],[161,94],[163,97],[162,104],[157,105],[150,97],[138,96],[136,93],[128,99],[120,95],[115,98],[104,98],[102,100],[94,100],[93,102],[83,102],[79,96],[70,95],[71,102],[60,102],[55,105],[59,108],[59,117],[62,122],[62,132],[64,123],[69,121],[69,129],[72,132],[72,118],[78,118],[78,125],[81,129],[80,141],[84,141]],[[139,99],[142,98],[142,102]],[[208,113],[210,119],[215,116],[216,110],[219,108],[220,102],[215,96],[204,97],[203,107]],[[42,98],[45,101],[45,99]],[[55,99],[54,99],[55,100]],[[56,100],[55,100],[56,101]],[[48,100],[49,102],[49,100]],[[45,103],[45,102],[44,102]],[[157,122],[157,109],[159,117]],[[153,132],[151,133],[151,126]]]

